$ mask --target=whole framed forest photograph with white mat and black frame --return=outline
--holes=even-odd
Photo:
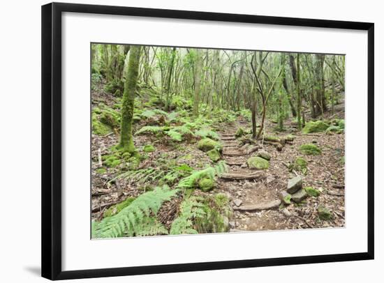
[[[374,24],[42,7],[42,276],[374,259]]]

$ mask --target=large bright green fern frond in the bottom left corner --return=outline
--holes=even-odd
[[[117,238],[121,236],[139,236],[165,234],[165,228],[152,215],[158,213],[164,201],[169,201],[178,190],[168,186],[145,192],[123,208],[117,215],[105,217],[101,222],[92,223],[94,238]]]

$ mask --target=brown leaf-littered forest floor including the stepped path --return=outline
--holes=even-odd
[[[100,103],[108,107],[119,109],[116,105],[119,101],[113,96],[102,93],[97,89],[92,91],[92,107],[98,107]],[[343,105],[337,115],[331,118],[344,118]],[[328,115],[330,116],[330,115]],[[144,124],[142,121],[135,123],[135,130]],[[267,144],[263,140],[257,142],[258,151],[265,150],[270,155],[269,168],[263,170],[263,178],[250,178],[245,180],[217,178],[214,190],[202,192],[194,190],[194,195],[209,196],[223,193],[228,196],[232,213],[230,216],[230,231],[261,231],[276,229],[302,229],[323,227],[344,227],[345,203],[344,203],[344,134],[326,135],[325,132],[316,132],[302,135],[297,131],[294,123],[287,121],[286,130],[278,132],[274,130],[276,124],[272,121],[265,122],[265,135],[274,137],[286,137],[295,135],[292,142],[286,142],[281,151],[273,144]],[[228,174],[237,176],[249,176],[259,170],[249,169],[246,161],[255,153],[247,153],[248,149],[235,137],[239,128],[250,129],[251,123],[242,115],[235,121],[223,122],[213,125],[219,133],[223,152],[221,159],[229,167]],[[118,144],[119,134],[112,131],[107,135],[92,135],[91,137],[91,217],[92,220],[101,220],[105,211],[111,206],[119,204],[128,197],[138,197],[143,192],[150,190],[145,182],[140,182],[140,176],[133,178],[117,178],[124,174],[126,165],[117,167],[105,167],[103,156],[110,154],[110,148]],[[198,139],[191,137],[183,142],[170,142],[166,137],[154,135],[134,135],[135,147],[146,156],[140,161],[135,170],[153,168],[156,172],[167,171],[170,166],[188,165],[193,170],[201,170],[207,165],[214,165],[207,154],[197,148]],[[156,151],[143,153],[142,148],[146,144],[156,146]],[[302,144],[316,144],[321,148],[320,155],[305,155],[307,170],[305,172],[290,169],[290,165],[297,157],[302,157],[299,146]],[[171,164],[172,163],[172,164]],[[290,178],[302,176],[303,188],[313,187],[321,193],[318,197],[307,197],[299,203],[291,201],[286,206],[279,205],[279,193],[287,189]],[[142,176],[144,177],[144,176]],[[156,181],[156,180],[155,180]],[[148,181],[149,182],[149,181]],[[150,183],[150,182],[149,182]],[[158,219],[170,227],[172,221],[179,213],[179,204],[182,197],[175,197],[163,204],[158,213]],[[276,205],[277,204],[277,205]],[[320,220],[318,206],[326,206],[332,211],[332,218]],[[247,206],[258,206],[251,211],[242,210]],[[264,209],[263,209],[264,208]]]

